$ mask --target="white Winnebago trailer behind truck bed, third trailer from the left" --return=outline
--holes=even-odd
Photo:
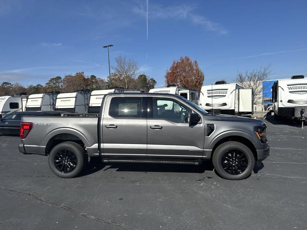
[[[56,97],[55,111],[68,113],[87,113],[90,101],[90,90],[76,90],[70,93],[61,93]]]

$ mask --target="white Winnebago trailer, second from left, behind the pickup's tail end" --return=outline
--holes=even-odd
[[[56,104],[56,96],[59,91],[50,91],[44,94],[31,94],[28,97],[25,111],[53,111]]]

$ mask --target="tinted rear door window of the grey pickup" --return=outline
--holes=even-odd
[[[118,118],[141,118],[142,98],[116,97],[112,98],[109,115]]]

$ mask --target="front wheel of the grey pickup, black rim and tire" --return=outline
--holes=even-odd
[[[227,141],[216,148],[213,153],[212,163],[216,172],[222,178],[242,180],[251,175],[255,165],[255,158],[246,145],[237,141]]]

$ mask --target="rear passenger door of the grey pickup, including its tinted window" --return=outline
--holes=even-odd
[[[101,126],[103,155],[146,157],[147,97],[109,96],[105,106]]]

